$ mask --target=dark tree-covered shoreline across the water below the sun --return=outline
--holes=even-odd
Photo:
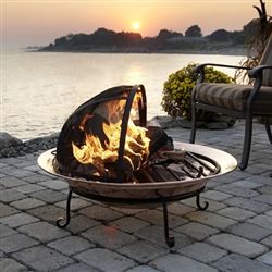
[[[92,34],[69,34],[36,51],[50,52],[114,52],[114,53],[246,53],[247,37],[256,30],[249,22],[242,30],[218,29],[202,36],[198,25],[188,27],[185,35],[161,29],[154,37],[141,37],[139,33],[109,30],[100,27]]]

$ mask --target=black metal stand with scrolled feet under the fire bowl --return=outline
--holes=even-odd
[[[162,208],[163,208],[163,222],[164,222],[164,238],[165,238],[165,242],[168,244],[169,247],[174,247],[175,245],[175,238],[173,236],[170,236],[169,235],[169,213],[168,213],[168,203],[169,202],[173,202],[173,201],[177,201],[177,200],[182,200],[182,199],[186,199],[186,198],[190,198],[193,196],[196,196],[196,205],[197,205],[197,208],[201,211],[206,210],[208,207],[209,207],[209,203],[207,201],[205,201],[205,205],[201,206],[200,203],[200,194],[201,191],[203,190],[200,189],[198,191],[195,191],[195,193],[191,193],[191,194],[185,194],[185,195],[181,195],[181,196],[175,196],[173,198],[162,198],[161,200],[160,199],[157,199],[157,201],[153,201],[152,199],[150,199],[149,201],[148,200],[145,200],[145,202],[143,201],[135,201],[134,205],[137,205],[137,203],[152,203],[152,202],[160,202],[162,203]],[[79,193],[79,191],[76,191],[74,190],[73,188],[70,187],[70,190],[69,190],[69,195],[67,195],[67,202],[66,202],[66,219],[64,218],[59,218],[55,222],[57,226],[61,227],[61,228],[64,228],[65,226],[69,225],[70,223],[70,219],[71,219],[71,215],[70,215],[70,210],[71,210],[71,199],[72,199],[72,194],[73,191],[77,195],[81,195],[81,196],[84,196],[84,194]],[[86,196],[85,196],[86,197]],[[132,200],[129,199],[128,201],[124,200],[124,199],[111,199],[111,198],[103,198],[103,197],[97,197],[97,196],[89,196],[88,198],[90,199],[95,199],[95,200],[100,200],[102,202],[123,202],[123,203],[132,203]]]

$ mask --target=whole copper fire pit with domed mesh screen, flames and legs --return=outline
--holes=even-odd
[[[82,104],[65,122],[57,149],[38,158],[48,173],[70,186],[66,219],[70,223],[72,194],[121,206],[162,205],[166,244],[168,203],[196,196],[211,177],[234,170],[231,154],[206,146],[174,143],[160,128],[147,126],[143,85],[108,89]]]

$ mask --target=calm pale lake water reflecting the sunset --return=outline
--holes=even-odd
[[[0,131],[21,139],[59,132],[81,103],[118,85],[144,84],[148,119],[165,114],[160,102],[170,73],[189,62],[238,64],[242,59],[208,54],[5,52]],[[233,75],[233,71],[224,72]]]

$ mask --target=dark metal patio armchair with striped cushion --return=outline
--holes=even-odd
[[[248,70],[248,76],[254,79],[254,85],[206,83],[205,67],[207,65]],[[272,134],[269,124],[269,118],[272,116],[272,34],[270,35],[259,65],[252,70],[225,64],[206,63],[198,65],[196,72],[199,78],[191,94],[190,143],[194,144],[196,138],[196,113],[198,109],[245,119],[244,147],[239,163],[240,170],[245,170],[248,165],[250,154],[254,118],[264,118],[268,137],[272,144]]]

